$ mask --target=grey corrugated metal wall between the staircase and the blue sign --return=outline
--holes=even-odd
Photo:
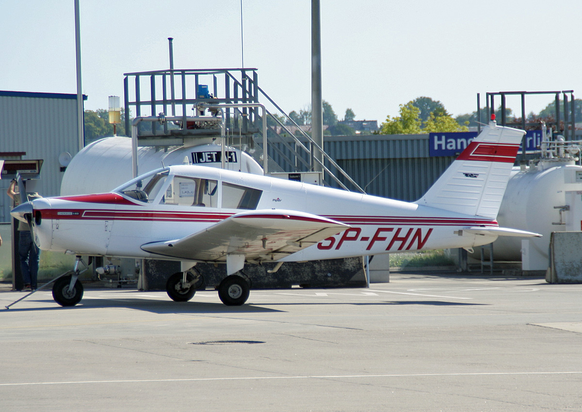
[[[275,145],[290,157],[283,144]],[[429,157],[428,134],[324,136],[324,150],[366,193],[404,201],[420,198],[455,159]],[[272,158],[289,171],[280,155]],[[339,187],[332,179],[326,183]]]

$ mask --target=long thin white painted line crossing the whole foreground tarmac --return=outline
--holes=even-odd
[[[459,374],[382,374],[382,375],[305,375],[290,377],[231,377],[231,378],[184,378],[184,379],[116,379],[111,381],[62,381],[62,382],[20,382],[0,383],[0,386],[33,385],[81,385],[83,383],[159,383],[159,382],[210,382],[210,381],[252,381],[275,379],[360,379],[360,378],[414,378],[414,377],[482,377],[482,376],[516,376],[516,375],[580,375],[582,371],[571,372],[474,372]]]

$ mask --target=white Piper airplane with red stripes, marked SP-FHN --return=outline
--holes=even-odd
[[[498,236],[540,236],[496,221],[523,130],[491,122],[414,203],[206,166],[145,173],[111,193],[40,198],[11,214],[29,221],[41,250],[77,256],[53,296],[79,303],[83,256],[181,262],[168,279],[186,301],[204,283],[197,262],[226,264],[218,294],[227,305],[249,297],[245,262],[284,262],[467,248]],[[212,285],[208,285],[212,286]]]

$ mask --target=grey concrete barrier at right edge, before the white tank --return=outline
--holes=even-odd
[[[552,232],[548,283],[582,283],[582,232]]]

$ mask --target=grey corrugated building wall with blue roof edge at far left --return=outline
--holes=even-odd
[[[59,155],[79,151],[77,97],[73,94],[0,91],[0,152],[26,152],[43,159],[37,191],[58,196],[63,172]],[[9,221],[9,180],[0,180],[0,222]]]

